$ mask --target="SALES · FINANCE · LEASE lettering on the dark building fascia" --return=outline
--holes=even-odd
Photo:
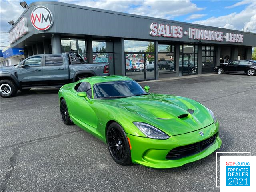
[[[206,40],[206,41],[223,41],[226,42],[244,42],[244,36],[241,34],[226,33],[221,31],[203,30],[197,28],[189,28],[188,31],[184,31],[182,26],[164,25],[152,23],[150,25],[151,36],[162,36],[171,38],[182,38],[183,35],[188,35],[189,39]]]

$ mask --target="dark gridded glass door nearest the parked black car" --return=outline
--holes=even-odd
[[[202,46],[202,73],[213,72],[215,67],[214,46]]]

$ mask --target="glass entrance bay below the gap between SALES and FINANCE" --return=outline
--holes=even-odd
[[[197,45],[180,45],[179,76],[198,72]]]

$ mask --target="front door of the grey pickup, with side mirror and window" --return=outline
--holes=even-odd
[[[38,86],[43,83],[42,56],[24,60],[17,69],[21,86]]]

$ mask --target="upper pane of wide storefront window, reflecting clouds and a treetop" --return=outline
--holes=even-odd
[[[152,41],[124,40],[125,52],[154,52],[155,43]]]

